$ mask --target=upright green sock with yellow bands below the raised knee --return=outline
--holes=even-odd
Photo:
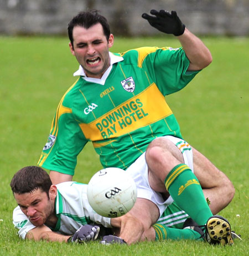
[[[175,166],[165,178],[165,187],[175,203],[199,225],[212,216],[198,179],[186,164]]]

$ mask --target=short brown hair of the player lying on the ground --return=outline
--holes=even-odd
[[[30,193],[40,188],[46,192],[49,198],[49,189],[52,185],[49,174],[37,166],[27,166],[14,174],[11,180],[11,189],[13,193]]]

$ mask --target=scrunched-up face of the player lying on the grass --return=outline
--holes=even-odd
[[[52,185],[48,195],[40,188],[30,193],[17,194],[14,198],[22,212],[29,218],[30,222],[36,227],[45,222],[54,214],[54,199],[56,197],[56,187]]]

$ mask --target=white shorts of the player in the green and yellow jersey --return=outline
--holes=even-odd
[[[164,136],[173,142],[183,154],[184,163],[194,172],[193,167],[193,152],[190,145],[185,140],[173,137],[170,135]],[[128,172],[137,185],[137,197],[151,200],[157,205],[160,215],[164,212],[168,205],[173,203],[173,198],[170,196],[167,200],[164,200],[162,195],[152,190],[148,181],[148,165],[145,159],[145,153],[143,153],[133,164],[127,168]]]

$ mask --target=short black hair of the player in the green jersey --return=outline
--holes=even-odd
[[[106,36],[107,41],[110,37],[110,26],[107,22],[107,19],[100,15],[97,10],[90,10],[85,12],[78,13],[68,24],[68,36],[72,46],[74,46],[74,38],[72,37],[72,30],[74,27],[84,27],[86,29],[94,26],[95,24],[100,23],[103,28],[103,33]]]

